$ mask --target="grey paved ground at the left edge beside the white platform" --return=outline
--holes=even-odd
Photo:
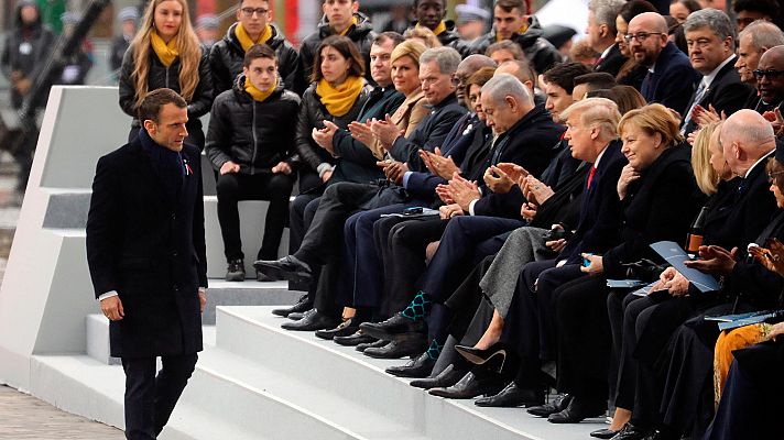
[[[19,219],[14,204],[15,169],[0,154],[0,283]],[[121,440],[122,431],[61,411],[35,397],[0,385],[0,439],[2,440]]]

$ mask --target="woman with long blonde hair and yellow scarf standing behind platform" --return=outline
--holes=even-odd
[[[186,0],[153,0],[141,29],[122,58],[120,108],[133,117],[129,141],[139,134],[139,105],[152,90],[168,88],[188,103],[185,142],[204,150],[199,118],[213,105],[213,78],[207,52],[190,25]]]

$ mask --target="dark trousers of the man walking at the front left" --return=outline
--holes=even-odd
[[[154,440],[166,426],[198,355],[162,356],[155,375],[156,358],[123,358],[126,371],[126,438]]]

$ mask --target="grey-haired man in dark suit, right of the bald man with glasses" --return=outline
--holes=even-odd
[[[732,114],[743,108],[752,92],[734,69],[734,28],[726,13],[715,9],[693,12],[686,23],[686,44],[692,67],[703,75],[683,114],[680,133],[697,129],[696,117],[706,109]]]

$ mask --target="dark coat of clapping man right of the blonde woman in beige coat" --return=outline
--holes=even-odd
[[[457,102],[455,95],[444,98],[433,106],[431,114],[420,122],[407,139],[399,136],[394,141],[390,155],[396,161],[405,162],[412,172],[426,170],[427,167],[420,158],[420,150],[433,152],[436,146],[443,146],[447,134],[466,112],[466,108]]]

